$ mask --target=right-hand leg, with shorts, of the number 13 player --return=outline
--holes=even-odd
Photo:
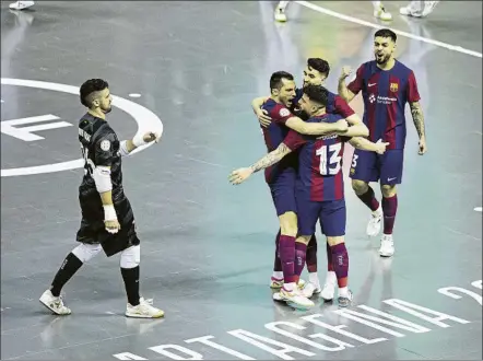
[[[346,307],[352,301],[352,292],[347,286],[349,254],[344,242],[346,223],[345,200],[323,202],[320,212],[320,223],[330,247],[332,267],[339,287],[339,305]],[[326,284],[321,295],[325,300],[329,301],[333,299],[335,287],[333,280],[330,279],[326,281]]]

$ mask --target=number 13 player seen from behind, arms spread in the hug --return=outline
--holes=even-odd
[[[328,115],[326,106],[329,92],[317,85],[304,88],[304,95],[299,101],[301,109],[309,117],[308,123],[334,124],[341,116]],[[298,176],[296,179],[296,207],[298,212],[298,234],[295,245],[295,255],[284,255],[282,264],[294,264],[295,279],[299,278],[305,266],[307,244],[315,233],[317,220],[320,220],[322,233],[326,234],[331,253],[331,264],[339,284],[339,304],[347,306],[352,294],[347,289],[349,256],[344,245],[345,234],[345,200],[342,176],[342,159],[344,141],[347,138],[340,135],[322,137],[301,136],[291,130],[284,141],[269,154],[247,168],[239,168],[229,175],[229,182],[240,184],[251,174],[267,168],[284,156],[301,148],[298,155]],[[382,154],[388,143],[373,143],[364,138],[352,138],[349,142],[358,149]],[[281,244],[281,257],[282,253]],[[291,289],[284,284],[275,300],[286,301],[288,304],[298,304],[291,294]],[[331,293],[331,294],[330,294]],[[326,290],[325,299],[331,300],[334,293]]]

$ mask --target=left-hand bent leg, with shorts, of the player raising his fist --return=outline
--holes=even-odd
[[[380,222],[382,219],[382,208],[377,200],[374,189],[369,182],[379,179],[377,154],[356,149],[352,158],[350,177],[352,178],[352,188],[358,199],[370,209],[370,220],[367,224],[366,233],[368,236],[375,236],[380,232]]]

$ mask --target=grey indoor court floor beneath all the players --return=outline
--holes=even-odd
[[[393,28],[482,51],[481,2],[443,2],[431,18],[412,21],[397,14],[404,3],[387,5]],[[369,2],[317,4],[376,23]],[[397,253],[379,258],[379,240],[364,235],[367,210],[346,184],[355,293],[349,311],[356,313],[321,301],[308,313],[295,312],[274,304],[268,287],[278,222],[262,175],[239,187],[226,176],[263,154],[249,102],[268,93],[270,73],[285,69],[301,82],[305,59],[320,56],[332,66],[328,86],[335,90],[343,65],[372,58],[374,28],[298,4],[288,9],[290,22],[278,25],[273,8],[46,1],[13,13],[2,1],[2,359],[482,358],[482,213],[474,211],[482,206],[481,55],[400,36],[398,58],[420,84],[428,153],[416,154],[409,116]],[[166,312],[163,321],[125,318],[119,259],[104,255],[64,288],[71,316],[56,317],[38,303],[76,245],[80,222],[82,171],[43,173],[80,158],[73,125],[84,109],[58,84],[75,91],[94,77],[164,126],[160,144],[123,165],[142,238],[141,290]],[[38,89],[19,79],[56,84]],[[362,112],[358,98],[353,105]],[[141,126],[151,119],[140,107],[129,109],[109,115],[121,138],[137,131],[133,116]],[[12,126],[59,121],[67,125],[32,131],[43,138],[8,133]]]

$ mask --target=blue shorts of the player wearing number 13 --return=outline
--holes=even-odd
[[[309,196],[298,193],[296,199],[299,235],[316,233],[317,221],[320,222],[320,230],[326,236],[345,235],[345,199],[313,201]]]

